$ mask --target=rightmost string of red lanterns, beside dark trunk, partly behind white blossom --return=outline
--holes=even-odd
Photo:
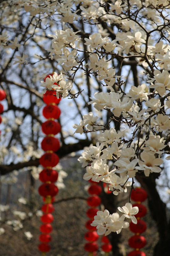
[[[132,190],[131,199],[137,203],[133,204],[132,207],[137,206],[139,208],[139,212],[136,214],[137,224],[134,224],[133,222],[130,222],[129,224],[130,230],[135,233],[135,235],[131,236],[128,241],[129,246],[134,248],[135,251],[129,252],[128,256],[146,256],[144,252],[139,250],[146,244],[146,239],[144,236],[141,236],[141,234],[147,228],[145,221],[140,218],[146,215],[146,206],[141,204],[141,202],[144,202],[148,195],[143,188],[135,188],[135,190]]]

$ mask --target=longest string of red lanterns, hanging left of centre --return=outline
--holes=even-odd
[[[44,81],[49,76],[50,75],[46,76]],[[41,125],[42,132],[45,133],[46,137],[41,142],[41,148],[45,153],[39,159],[40,164],[44,167],[39,175],[39,180],[43,182],[43,184],[38,189],[39,194],[43,197],[43,201],[45,202],[41,207],[41,211],[43,212],[41,222],[43,224],[40,226],[42,234],[39,236],[41,244],[38,246],[39,251],[41,251],[43,255],[51,249],[48,243],[51,241],[49,233],[53,230],[50,224],[54,220],[51,214],[54,212],[52,203],[55,200],[54,196],[58,193],[58,188],[54,184],[58,179],[58,172],[52,168],[59,163],[59,156],[54,152],[60,148],[60,142],[54,136],[61,130],[60,124],[55,121],[61,114],[60,108],[57,106],[60,100],[61,99],[57,99],[55,91],[47,90],[43,95],[43,101],[47,105],[43,108],[42,114],[47,121]]]

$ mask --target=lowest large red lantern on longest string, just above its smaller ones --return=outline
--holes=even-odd
[[[54,183],[44,183],[39,187],[38,192],[41,196],[55,196],[58,188]]]

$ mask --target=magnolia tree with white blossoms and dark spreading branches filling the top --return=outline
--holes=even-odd
[[[148,192],[158,228],[153,255],[170,251],[166,198],[156,187],[160,176],[162,186],[169,187],[164,169],[170,160],[169,6],[168,0],[0,3],[1,88],[7,94],[1,175],[23,168],[37,172],[42,95],[55,90],[63,98],[57,154],[86,147],[78,159],[83,178],[107,183],[113,191],[103,196],[106,210],[92,225],[99,235],[113,232],[114,255],[122,255],[117,234],[129,227],[126,220],[137,223],[138,208],[130,204],[137,181]],[[113,198],[127,187],[120,216]]]

